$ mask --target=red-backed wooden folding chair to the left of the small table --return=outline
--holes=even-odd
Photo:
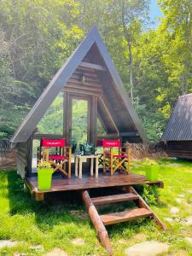
[[[66,146],[65,139],[51,140],[43,138],[38,155],[38,160],[49,161],[55,172],[60,171],[67,177],[71,177],[72,148]]]

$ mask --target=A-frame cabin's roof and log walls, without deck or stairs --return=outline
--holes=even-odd
[[[37,131],[38,122],[60,93],[63,96],[62,131],[54,134]],[[96,27],[93,27],[66,64],[55,74],[11,139],[11,143],[17,148],[18,172],[21,177],[32,175],[34,139],[65,137],[67,144],[71,144],[73,99],[87,102],[88,142],[96,143],[98,138],[103,137],[96,131],[97,119],[100,119],[105,130],[104,137],[120,138],[123,143],[147,141],[143,126],[113,66],[108,50]]]

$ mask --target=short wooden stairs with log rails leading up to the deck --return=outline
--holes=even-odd
[[[166,226],[160,221],[160,218],[156,216],[151,208],[148,207],[148,204],[143,201],[143,198],[138,195],[137,191],[131,186],[126,187],[126,193],[120,195],[106,195],[90,198],[89,192],[87,190],[81,191],[81,194],[87,211],[90,214],[92,224],[96,229],[97,236],[99,236],[103,247],[106,248],[109,255],[113,255],[113,249],[110,244],[108,231],[105,228],[106,225],[149,217],[154,218],[154,221],[160,226],[162,230],[166,230]],[[108,203],[122,201],[135,201],[137,203],[137,207],[128,209],[124,212],[112,212],[102,215],[99,215],[96,210],[96,206],[98,205],[105,205]]]

